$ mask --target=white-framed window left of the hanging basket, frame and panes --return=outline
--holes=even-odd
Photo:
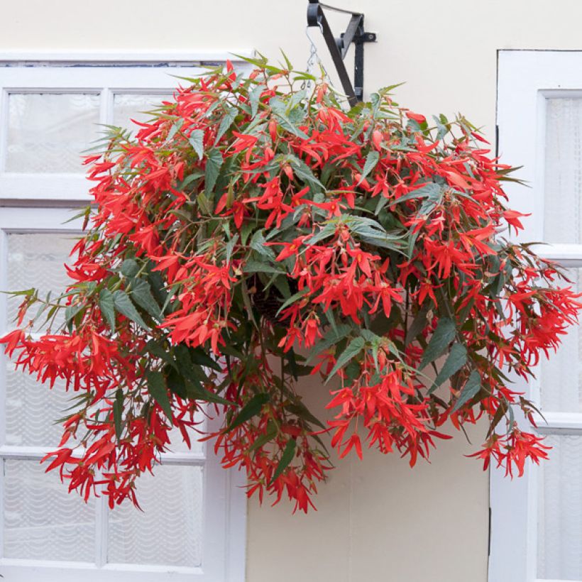
[[[79,152],[99,137],[99,123],[128,126],[171,96],[176,77],[202,69],[154,60],[0,65],[0,289],[59,291],[81,226],[67,221],[89,199]],[[18,301],[0,295],[0,332],[16,309]],[[242,581],[240,473],[224,471],[212,445],[188,450],[176,439],[155,477],[139,481],[144,512],[110,511],[105,498],[85,504],[38,463],[58,444],[54,422],[69,398],[2,356],[0,574],[11,582]]]

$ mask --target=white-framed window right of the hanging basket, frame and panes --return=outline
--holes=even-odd
[[[510,185],[510,207],[532,213],[524,239],[559,260],[582,290],[582,52],[503,50],[499,153],[531,188]],[[582,581],[582,334],[564,336],[537,382],[538,432],[550,460],[521,480],[491,471],[490,582]],[[526,423],[527,424],[527,423]]]

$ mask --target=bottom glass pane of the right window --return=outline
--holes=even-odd
[[[539,469],[538,578],[582,580],[582,436],[551,435]]]

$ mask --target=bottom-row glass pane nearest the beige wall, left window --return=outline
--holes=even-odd
[[[138,480],[143,512],[126,503],[109,513],[110,563],[199,566],[202,468],[158,466]]]

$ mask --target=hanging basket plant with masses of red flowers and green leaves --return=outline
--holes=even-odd
[[[556,265],[503,238],[522,228],[511,168],[465,119],[430,125],[388,92],[344,111],[325,84],[254,62],[178,89],[87,160],[72,283],[57,304],[29,292],[18,322],[40,302],[65,329],[1,340],[78,397],[49,468],[85,498],[104,485],[111,505],[137,503],[172,427],[189,444],[202,430],[195,413],[220,416],[204,438],[249,495],[304,511],[331,467],[327,431],[340,456],[365,440],[413,465],[446,422],[485,415],[485,468],[544,459],[512,420],[533,407],[507,371],[529,378],[581,305]],[[327,426],[297,393],[304,374],[329,383]]]

